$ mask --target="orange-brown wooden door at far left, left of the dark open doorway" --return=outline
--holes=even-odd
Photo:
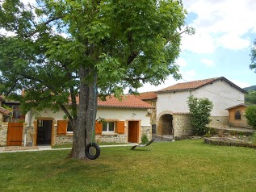
[[[21,146],[23,141],[23,123],[8,123],[7,146]]]

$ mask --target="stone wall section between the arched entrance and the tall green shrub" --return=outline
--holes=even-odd
[[[191,126],[191,115],[188,113],[173,114],[174,137],[191,136],[193,130]]]

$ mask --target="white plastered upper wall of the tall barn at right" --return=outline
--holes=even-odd
[[[226,108],[244,102],[244,94],[226,81],[214,81],[212,84],[203,86],[197,90],[158,93],[157,116],[162,111],[189,112],[187,98],[190,95],[195,98],[208,98],[213,102],[212,116],[229,116]]]

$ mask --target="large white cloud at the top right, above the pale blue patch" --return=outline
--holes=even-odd
[[[254,0],[183,0],[188,12],[197,15],[191,27],[196,35],[183,35],[183,50],[211,53],[216,48],[243,49],[250,47],[247,32],[255,32]]]

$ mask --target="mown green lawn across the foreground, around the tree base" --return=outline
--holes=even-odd
[[[69,150],[0,153],[0,191],[255,191],[256,150],[182,140],[153,151],[101,148],[99,159]]]

